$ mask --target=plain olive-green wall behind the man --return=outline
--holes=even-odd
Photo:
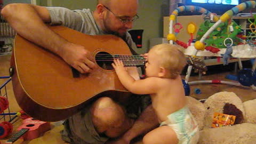
[[[96,0],[48,0],[52,6],[63,6],[68,9],[89,8],[94,10]],[[47,0],[41,0],[40,5],[46,5]],[[169,0],[139,0],[139,19],[133,23],[133,29],[144,29],[142,48],[138,53],[149,50],[149,39],[163,36],[163,17],[169,15]]]

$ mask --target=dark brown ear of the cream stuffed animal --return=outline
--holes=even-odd
[[[223,107],[223,114],[236,116],[234,124],[241,124],[244,120],[244,116],[241,110],[231,103],[226,103]]]

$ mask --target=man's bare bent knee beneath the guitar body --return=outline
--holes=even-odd
[[[116,138],[129,130],[133,120],[128,118],[122,106],[108,97],[95,101],[90,109],[92,122],[98,133]]]

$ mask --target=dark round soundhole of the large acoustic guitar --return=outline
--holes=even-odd
[[[99,52],[95,56],[95,60],[97,64],[106,70],[112,70],[113,67],[111,66],[111,63],[113,63],[113,57],[111,54],[107,52]]]

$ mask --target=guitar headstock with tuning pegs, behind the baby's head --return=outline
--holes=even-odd
[[[193,66],[199,73],[206,74],[207,67],[202,59],[189,57],[187,62],[189,66]]]

